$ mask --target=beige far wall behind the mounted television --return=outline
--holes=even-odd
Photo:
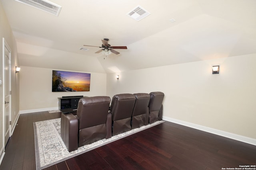
[[[58,109],[62,96],[106,95],[106,74],[93,72],[86,72],[91,74],[90,92],[52,92],[52,70],[56,69],[21,66],[20,113]]]

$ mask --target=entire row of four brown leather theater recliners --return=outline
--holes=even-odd
[[[117,94],[81,98],[77,117],[61,115],[61,137],[69,152],[83,145],[162,120],[164,93]],[[110,111],[108,111],[110,106]]]

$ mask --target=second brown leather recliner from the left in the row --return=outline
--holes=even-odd
[[[133,94],[117,94],[113,96],[110,112],[112,113],[112,135],[130,131],[132,111],[135,103]]]

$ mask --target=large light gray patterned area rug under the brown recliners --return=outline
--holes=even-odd
[[[163,123],[157,121],[150,125],[132,129],[131,131],[112,136],[110,139],[102,139],[89,145],[79,147],[78,150],[68,152],[60,137],[60,118],[34,122],[36,169],[42,170],[84,152],[101,147],[118,139],[132,135],[144,129]]]

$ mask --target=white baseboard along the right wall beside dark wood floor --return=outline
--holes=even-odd
[[[241,142],[248,143],[248,144],[256,146],[256,139],[253,139],[253,138],[249,138],[249,137],[245,137],[245,136],[242,136],[242,135],[237,135],[237,134],[234,134],[234,133],[221,131],[221,130],[218,130],[218,129],[213,129],[213,128],[202,126],[202,125],[197,125],[197,124],[186,122],[186,121],[181,121],[181,120],[178,120],[178,119],[173,119],[173,118],[170,118],[170,117],[163,116],[163,120],[170,121],[170,122],[173,122],[173,123],[177,123],[177,124],[180,124],[180,125],[184,125],[184,126],[187,126],[187,127],[192,127],[194,129],[198,129],[198,130],[205,131],[205,132],[208,132],[208,133],[213,133],[215,135],[227,137],[227,138],[230,138],[230,139],[234,139],[236,141],[241,141]]]

